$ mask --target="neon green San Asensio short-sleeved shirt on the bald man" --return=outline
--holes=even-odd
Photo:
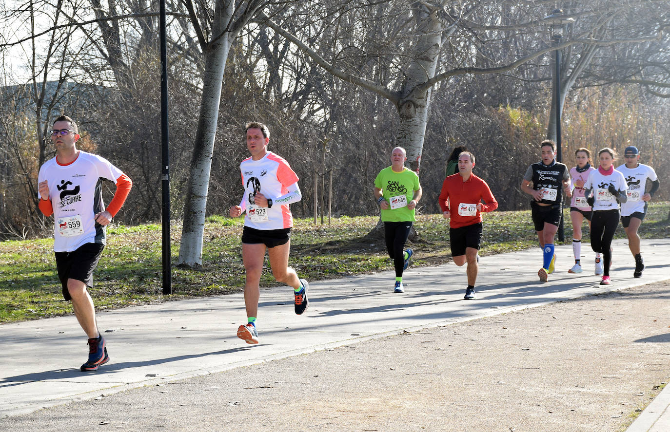
[[[386,167],[379,171],[375,179],[375,187],[382,190],[382,196],[389,203],[388,210],[381,209],[383,222],[413,222],[416,220],[414,209],[408,209],[407,204],[412,200],[414,191],[421,188],[417,173],[407,167],[403,167],[401,173],[396,173],[392,167]]]

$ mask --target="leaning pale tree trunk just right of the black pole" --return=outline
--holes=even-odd
[[[214,138],[218,126],[218,108],[221,100],[223,73],[230,51],[230,39],[226,26],[232,17],[234,3],[229,2],[223,9],[220,2],[216,3],[214,37],[205,51],[205,70],[202,83],[202,100],[198,117],[198,132],[194,143],[191,160],[188,192],[184,207],[184,225],[182,241],[179,249],[178,265],[200,267],[202,265],[202,238],[204,236],[205,212],[207,208],[207,192],[209,189],[212,156],[214,154]]]

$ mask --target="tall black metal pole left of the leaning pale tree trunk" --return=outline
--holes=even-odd
[[[167,35],[165,0],[160,1],[161,33],[161,183],[163,219],[163,294],[172,294],[172,253],[170,253],[170,147],[167,128]]]

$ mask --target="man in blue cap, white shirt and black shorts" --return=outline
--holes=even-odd
[[[628,247],[630,253],[635,257],[635,271],[632,276],[639,278],[645,269],[645,263],[640,252],[640,236],[637,233],[647,214],[647,202],[659,189],[659,179],[656,172],[649,165],[639,163],[640,151],[636,146],[628,146],[624,150],[626,163],[616,169],[624,175],[628,183],[628,200],[621,203],[621,225],[628,236]],[[651,181],[651,188],[645,192],[647,179]]]

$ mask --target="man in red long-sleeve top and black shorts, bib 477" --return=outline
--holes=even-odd
[[[462,152],[458,156],[458,174],[444,179],[438,199],[444,219],[450,219],[452,259],[459,267],[468,263],[465,300],[477,298],[474,284],[479,272],[477,253],[482,240],[482,212],[498,208],[498,201],[490,188],[485,181],[472,174],[472,168],[474,154]]]

